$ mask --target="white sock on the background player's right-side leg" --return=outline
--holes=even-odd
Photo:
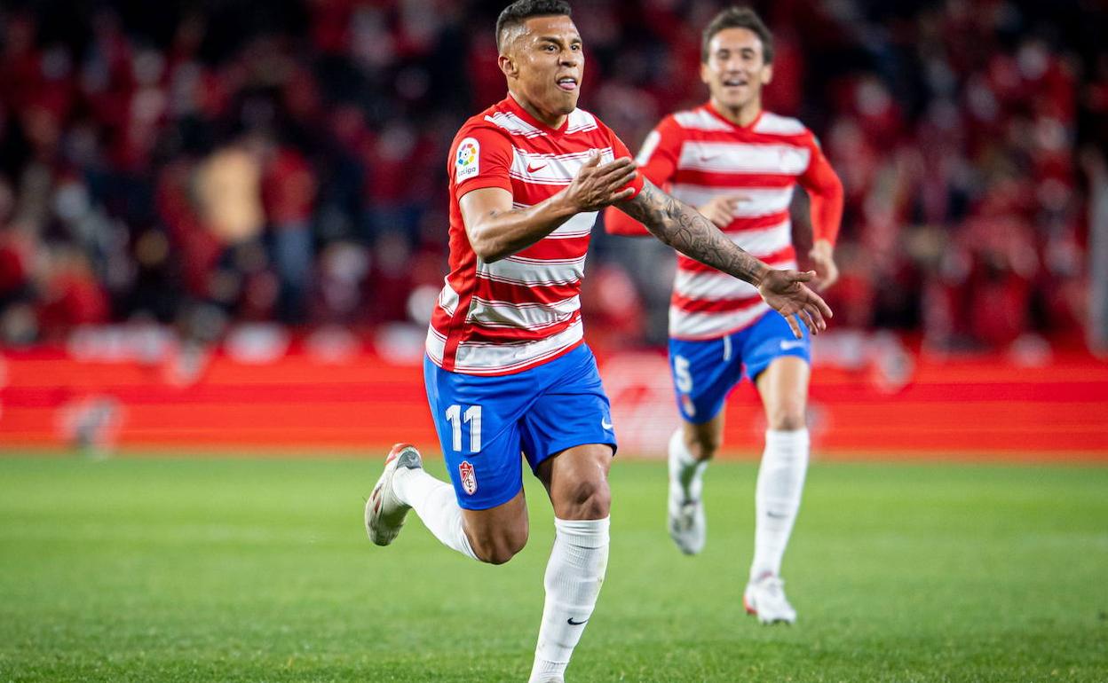
[[[781,558],[800,509],[808,472],[808,430],[766,432],[766,451],[755,493],[755,560],[750,578],[781,575]]]

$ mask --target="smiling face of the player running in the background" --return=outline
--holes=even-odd
[[[762,43],[750,29],[724,29],[708,43],[708,61],[700,64],[700,80],[711,99],[731,108],[761,103],[761,89],[773,77],[773,66],[762,55]]]

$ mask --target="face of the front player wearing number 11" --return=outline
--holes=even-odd
[[[568,17],[533,17],[501,56],[512,91],[544,116],[560,117],[577,107],[585,54]]]

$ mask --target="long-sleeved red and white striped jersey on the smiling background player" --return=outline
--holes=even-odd
[[[652,183],[700,207],[721,195],[741,195],[735,220],[722,231],[773,268],[797,267],[789,206],[797,183],[811,197],[817,239],[832,242],[842,217],[842,185],[812,133],[796,118],[762,112],[748,126],[727,121],[705,104],[667,116],[647,136],[636,159]],[[646,235],[618,210],[605,228]],[[758,321],[769,306],[742,280],[677,255],[669,303],[669,335],[718,339]]]

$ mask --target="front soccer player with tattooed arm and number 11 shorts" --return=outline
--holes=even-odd
[[[608,400],[578,304],[597,211],[616,205],[659,239],[757,286],[812,333],[831,311],[693,208],[639,177],[624,144],[577,108],[581,37],[558,0],[520,0],[496,21],[507,96],[459,131],[449,161],[450,275],[427,337],[424,381],[453,486],[398,444],[366,505],[388,545],[409,509],[444,545],[503,563],[527,540],[522,456],[546,487],[555,540],[532,681],[562,681],[608,558]],[[802,322],[797,322],[798,320]]]

